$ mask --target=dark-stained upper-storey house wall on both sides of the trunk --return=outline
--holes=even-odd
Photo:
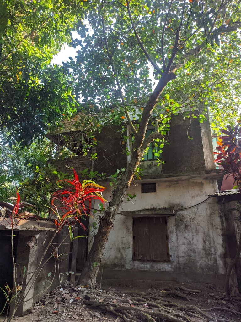
[[[72,124],[72,123],[71,123]],[[117,169],[126,168],[130,158],[123,154],[126,144],[120,127],[104,127],[101,133],[96,133],[99,141],[96,147],[97,159],[93,162],[94,171],[110,176]],[[128,135],[129,129],[127,129]],[[190,136],[192,139],[189,139]],[[76,140],[78,135],[76,134]],[[200,124],[198,120],[183,119],[182,114],[174,115],[170,121],[170,131],[167,134],[170,145],[165,145],[161,155],[165,164],[156,166],[155,161],[143,161],[144,179],[167,178],[183,175],[205,173],[205,170],[215,169],[212,154],[212,142],[209,122]],[[208,143],[211,142],[209,145]],[[123,144],[124,143],[124,144]],[[130,146],[128,146],[131,149]],[[210,150],[211,148],[211,150]],[[89,154],[92,152],[89,152]],[[205,156],[205,157],[204,157]],[[56,161],[54,166],[58,171],[67,172],[67,166],[75,167],[76,171],[91,168],[90,156],[76,156],[73,159]]]

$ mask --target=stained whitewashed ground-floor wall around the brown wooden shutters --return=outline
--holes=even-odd
[[[132,216],[139,211],[150,213],[160,209],[181,209],[198,204],[207,198],[207,194],[217,191],[214,179],[195,181],[156,182],[156,193],[141,194],[141,185],[131,185],[128,193],[136,194],[132,201],[121,205],[115,219],[114,229],[110,233],[103,265],[110,276],[147,279],[215,279],[225,273],[223,232],[225,223],[216,199],[211,204],[202,203],[183,211],[176,211],[175,216],[167,217],[170,261],[151,262],[132,260]],[[109,200],[111,192],[104,192]],[[208,201],[208,202],[210,202]],[[96,205],[95,205],[96,208]],[[91,218],[91,221],[93,219]],[[90,223],[91,225],[91,223]],[[91,238],[89,244],[91,245]],[[90,249],[90,247],[89,247]],[[115,270],[115,271],[112,271]],[[140,272],[143,271],[143,274]],[[148,272],[149,271],[149,272]],[[132,274],[134,272],[134,274]],[[115,274],[116,273],[116,274]],[[169,274],[170,273],[170,274]],[[172,274],[171,274],[172,273]],[[172,276],[171,276],[172,275]]]

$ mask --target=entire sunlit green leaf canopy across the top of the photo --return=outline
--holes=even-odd
[[[174,1],[171,7],[169,1],[130,3],[140,41],[158,68],[164,71],[163,60],[167,65],[176,52],[173,66],[177,67],[177,78],[167,83],[153,114],[159,119],[159,131],[165,137],[172,114],[183,112],[190,122],[196,119],[202,123],[209,109],[214,132],[238,117],[241,38],[236,26],[241,20],[240,5],[226,3],[223,25],[221,3],[207,0],[200,6],[198,1],[186,1],[183,21],[182,2]],[[8,147],[13,150],[15,146],[30,147],[34,139],[39,140],[76,111],[85,116],[75,125],[76,129],[86,126],[85,138],[75,149],[75,142],[68,147],[77,153],[82,151],[85,156],[97,145],[94,133],[105,125],[120,125],[124,131],[125,109],[138,129],[138,120],[161,75],[153,70],[143,52],[131,28],[125,3],[108,0],[102,9],[87,1],[76,5],[9,0],[0,6],[0,128],[7,126],[9,130]],[[115,73],[106,54],[102,16]],[[180,24],[180,39],[175,44]],[[63,66],[51,66],[53,55],[64,43],[76,48],[76,55],[71,54]],[[126,143],[134,140],[135,137],[127,140],[123,136],[123,153],[129,155]],[[161,150],[162,147],[158,149]],[[93,152],[91,158],[96,157]],[[51,175],[61,176],[56,172],[51,169]],[[94,178],[98,174],[86,171],[83,175]]]

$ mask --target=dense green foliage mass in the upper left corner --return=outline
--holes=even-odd
[[[71,76],[50,61],[71,42],[82,14],[81,6],[62,1],[0,4],[0,129],[7,127],[11,148],[29,147],[75,111]]]

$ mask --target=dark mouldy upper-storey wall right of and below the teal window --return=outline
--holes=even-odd
[[[189,139],[188,135],[192,139]],[[207,132],[206,136],[211,138],[211,132]],[[161,158],[165,162],[164,164],[157,167],[155,161],[141,163],[141,168],[144,169],[144,179],[205,172],[201,124],[198,120],[183,119],[182,114],[174,115],[170,122],[168,143],[170,145],[166,144],[162,149]]]

